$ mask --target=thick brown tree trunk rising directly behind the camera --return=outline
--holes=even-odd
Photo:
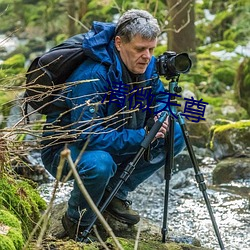
[[[187,52],[196,59],[195,0],[167,0],[169,9],[168,50]]]

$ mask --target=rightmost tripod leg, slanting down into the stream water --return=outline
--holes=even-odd
[[[206,188],[206,184],[204,182],[204,177],[199,169],[198,162],[197,162],[197,159],[196,159],[194,151],[193,151],[193,147],[192,147],[191,142],[190,142],[189,133],[188,133],[188,130],[187,130],[186,125],[185,125],[185,120],[181,116],[181,113],[178,113],[178,121],[181,125],[181,130],[182,130],[185,142],[186,142],[188,153],[189,153],[190,159],[193,163],[193,167],[194,167],[194,171],[195,171],[195,179],[199,185],[200,191],[203,194],[203,197],[204,197],[204,200],[205,200],[205,203],[206,203],[206,206],[207,206],[207,209],[208,209],[208,212],[209,212],[209,215],[210,215],[210,218],[211,218],[211,221],[213,224],[213,228],[214,228],[216,237],[218,239],[220,248],[221,248],[221,250],[224,250],[225,247],[223,245],[221,235],[220,235],[220,232],[219,232],[219,229],[218,229],[218,226],[217,226],[214,214],[213,214],[213,210],[212,210],[212,207],[211,207],[211,204],[210,204],[210,201],[208,199],[207,192],[206,192],[207,188]]]

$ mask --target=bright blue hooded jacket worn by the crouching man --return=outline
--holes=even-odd
[[[79,147],[88,140],[88,150],[104,150],[114,155],[132,154],[140,148],[146,121],[137,129],[126,128],[122,104],[109,103],[108,99],[103,102],[107,90],[112,89],[114,83],[122,82],[121,62],[114,53],[114,31],[114,24],[94,22],[86,33],[83,48],[88,59],[69,77],[68,87],[62,93],[63,101],[57,101],[47,115],[47,123],[59,129],[57,132],[47,131],[45,136],[62,133],[60,142],[67,137]],[[154,57],[145,72],[145,79],[146,86],[152,86],[157,102],[160,100],[157,109],[164,108],[166,105],[161,100],[166,102],[167,97],[161,93],[164,87],[156,73]],[[81,82],[83,80],[86,82]]]

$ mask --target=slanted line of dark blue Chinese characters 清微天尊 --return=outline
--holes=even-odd
[[[110,83],[109,83],[110,85]],[[111,85],[110,85],[111,86]],[[139,109],[144,111],[152,112],[153,104],[156,102],[157,105],[160,105],[160,109],[155,111],[154,114],[158,114],[162,111],[169,110],[169,112],[177,119],[176,115],[176,106],[181,106],[177,104],[174,100],[176,97],[181,97],[181,95],[169,93],[169,92],[160,92],[159,96],[156,96],[152,93],[151,88],[147,87],[134,87],[131,89],[130,84],[125,84],[122,81],[113,82],[112,88],[108,89],[105,87],[105,90],[108,92],[102,99],[102,103],[108,99],[109,104],[115,103],[118,107],[123,108],[126,103],[128,104],[129,110]],[[109,95],[109,97],[108,97]],[[167,96],[167,98],[163,98]],[[108,98],[107,98],[108,97]],[[127,102],[126,102],[127,100]],[[195,100],[193,97],[184,98],[185,108],[184,112],[181,114],[185,116],[188,120],[192,122],[199,122],[200,120],[205,120],[204,114],[207,102],[203,102],[203,99]],[[163,105],[162,105],[163,104]]]

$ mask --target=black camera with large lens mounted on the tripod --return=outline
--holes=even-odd
[[[156,69],[160,76],[167,80],[187,73],[192,66],[192,61],[187,53],[176,54],[174,51],[164,52],[156,59]]]

